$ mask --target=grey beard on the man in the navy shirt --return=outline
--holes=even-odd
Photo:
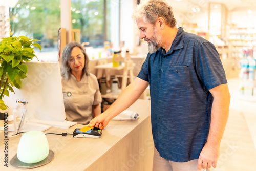
[[[158,34],[156,27],[153,28],[154,30],[154,35],[152,36],[151,40],[144,38],[145,41],[150,41],[148,42],[148,52],[149,53],[155,53],[159,48],[160,48],[160,44],[162,41],[162,37],[160,36],[160,34]]]

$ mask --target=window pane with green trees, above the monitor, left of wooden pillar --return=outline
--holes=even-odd
[[[24,35],[40,40],[41,52],[58,50],[59,0],[19,0],[14,8],[10,8],[9,15],[12,36]]]

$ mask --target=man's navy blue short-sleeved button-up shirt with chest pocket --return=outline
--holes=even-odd
[[[176,162],[199,158],[207,141],[213,97],[227,83],[213,44],[180,27],[172,47],[148,54],[138,77],[148,81],[152,133],[160,156]]]

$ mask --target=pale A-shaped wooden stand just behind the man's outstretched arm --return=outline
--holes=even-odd
[[[132,60],[126,60],[125,65],[123,68],[123,78],[122,78],[122,87],[123,90],[127,86],[127,78],[128,73],[130,74],[130,83],[133,82],[133,61]]]

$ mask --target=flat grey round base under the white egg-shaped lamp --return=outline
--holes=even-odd
[[[49,150],[49,154],[48,156],[42,160],[39,161],[37,163],[24,163],[22,161],[20,161],[17,158],[17,154],[11,159],[10,161],[10,165],[14,168],[18,168],[18,169],[29,169],[29,168],[35,168],[35,167],[40,167],[42,165],[48,164],[50,163],[54,158],[54,152],[50,149]]]

